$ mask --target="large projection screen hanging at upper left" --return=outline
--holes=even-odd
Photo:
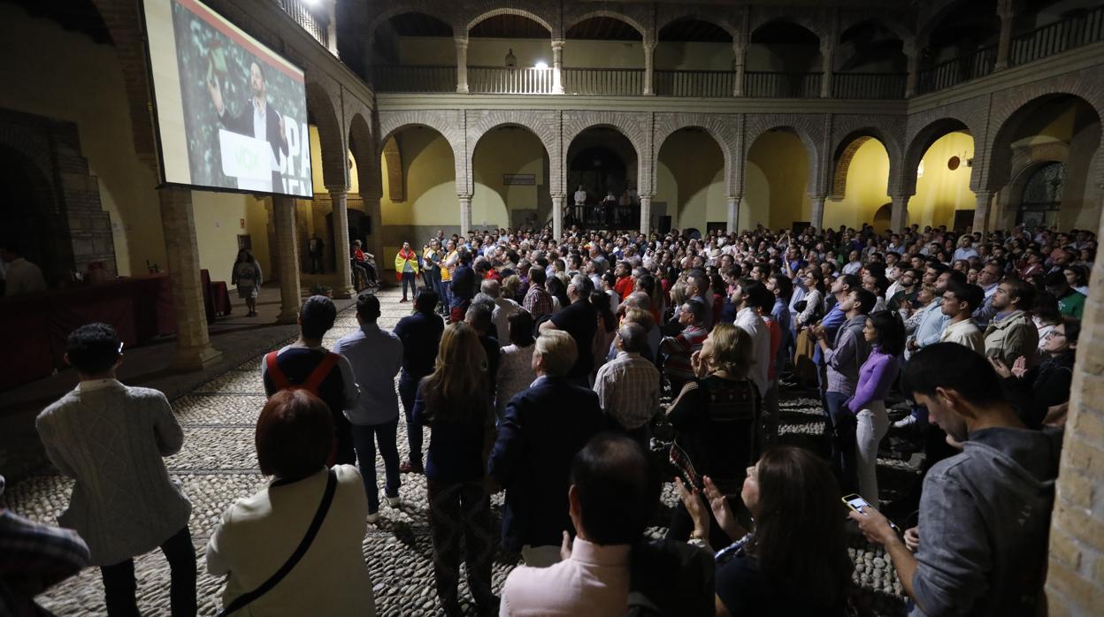
[[[198,0],[145,0],[164,184],[310,198],[302,70]]]

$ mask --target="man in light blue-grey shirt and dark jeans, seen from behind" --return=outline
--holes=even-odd
[[[436,302],[434,302],[436,305]],[[357,298],[357,322],[360,330],[342,337],[333,345],[352,366],[360,386],[360,400],[346,408],[352,423],[352,442],[357,448],[360,475],[368,492],[368,521],[380,520],[380,492],[375,485],[375,446],[383,456],[386,487],[384,497],[389,506],[399,504],[399,449],[395,433],[399,427],[399,400],[395,397],[395,374],[403,358],[403,343],[399,337],[381,330],[380,299],[365,292]]]

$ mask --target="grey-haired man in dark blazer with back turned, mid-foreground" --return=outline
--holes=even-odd
[[[571,334],[541,332],[533,351],[533,385],[506,407],[488,471],[506,489],[502,547],[527,565],[560,561],[567,514],[571,460],[598,433],[612,429],[598,396],[566,377],[578,354]]]

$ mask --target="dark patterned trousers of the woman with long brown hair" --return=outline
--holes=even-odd
[[[460,539],[464,539],[468,588],[481,611],[495,610],[491,559],[498,544],[491,525],[490,497],[484,481],[426,482],[429,493],[429,533],[437,597],[446,615],[459,615]]]

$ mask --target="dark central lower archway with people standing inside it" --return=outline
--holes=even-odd
[[[590,127],[571,140],[564,161],[567,172],[564,223],[638,228],[639,153],[628,137],[615,127]],[[611,195],[617,205],[603,206]],[[622,205],[623,196],[627,198],[628,206]]]

